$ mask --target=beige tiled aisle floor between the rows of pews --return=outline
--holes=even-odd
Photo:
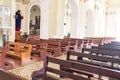
[[[65,59],[65,56],[66,55],[62,55],[58,58]],[[42,68],[42,66],[43,66],[43,61],[40,61],[40,62],[34,62],[34,63],[26,65],[26,66],[21,66],[21,67],[18,67],[18,68],[9,70],[9,71],[14,74],[17,74],[19,76],[22,76],[22,77],[26,78],[27,80],[32,80],[31,79],[32,72],[35,70],[40,70]],[[51,64],[51,66],[58,68],[58,66],[56,66],[54,64]]]

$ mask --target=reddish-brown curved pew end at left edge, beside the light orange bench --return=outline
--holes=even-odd
[[[0,48],[0,68],[4,70],[13,69],[13,65],[6,60],[6,47]]]

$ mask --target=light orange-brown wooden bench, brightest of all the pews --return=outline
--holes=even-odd
[[[21,65],[30,61],[32,45],[20,42],[7,42],[7,56],[21,60]]]

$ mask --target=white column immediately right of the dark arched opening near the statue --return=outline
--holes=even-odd
[[[41,0],[40,38],[48,39],[49,0]]]

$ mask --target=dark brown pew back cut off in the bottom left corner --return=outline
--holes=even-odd
[[[20,77],[18,75],[15,75],[11,72],[0,69],[0,80],[27,80],[27,79]]]

